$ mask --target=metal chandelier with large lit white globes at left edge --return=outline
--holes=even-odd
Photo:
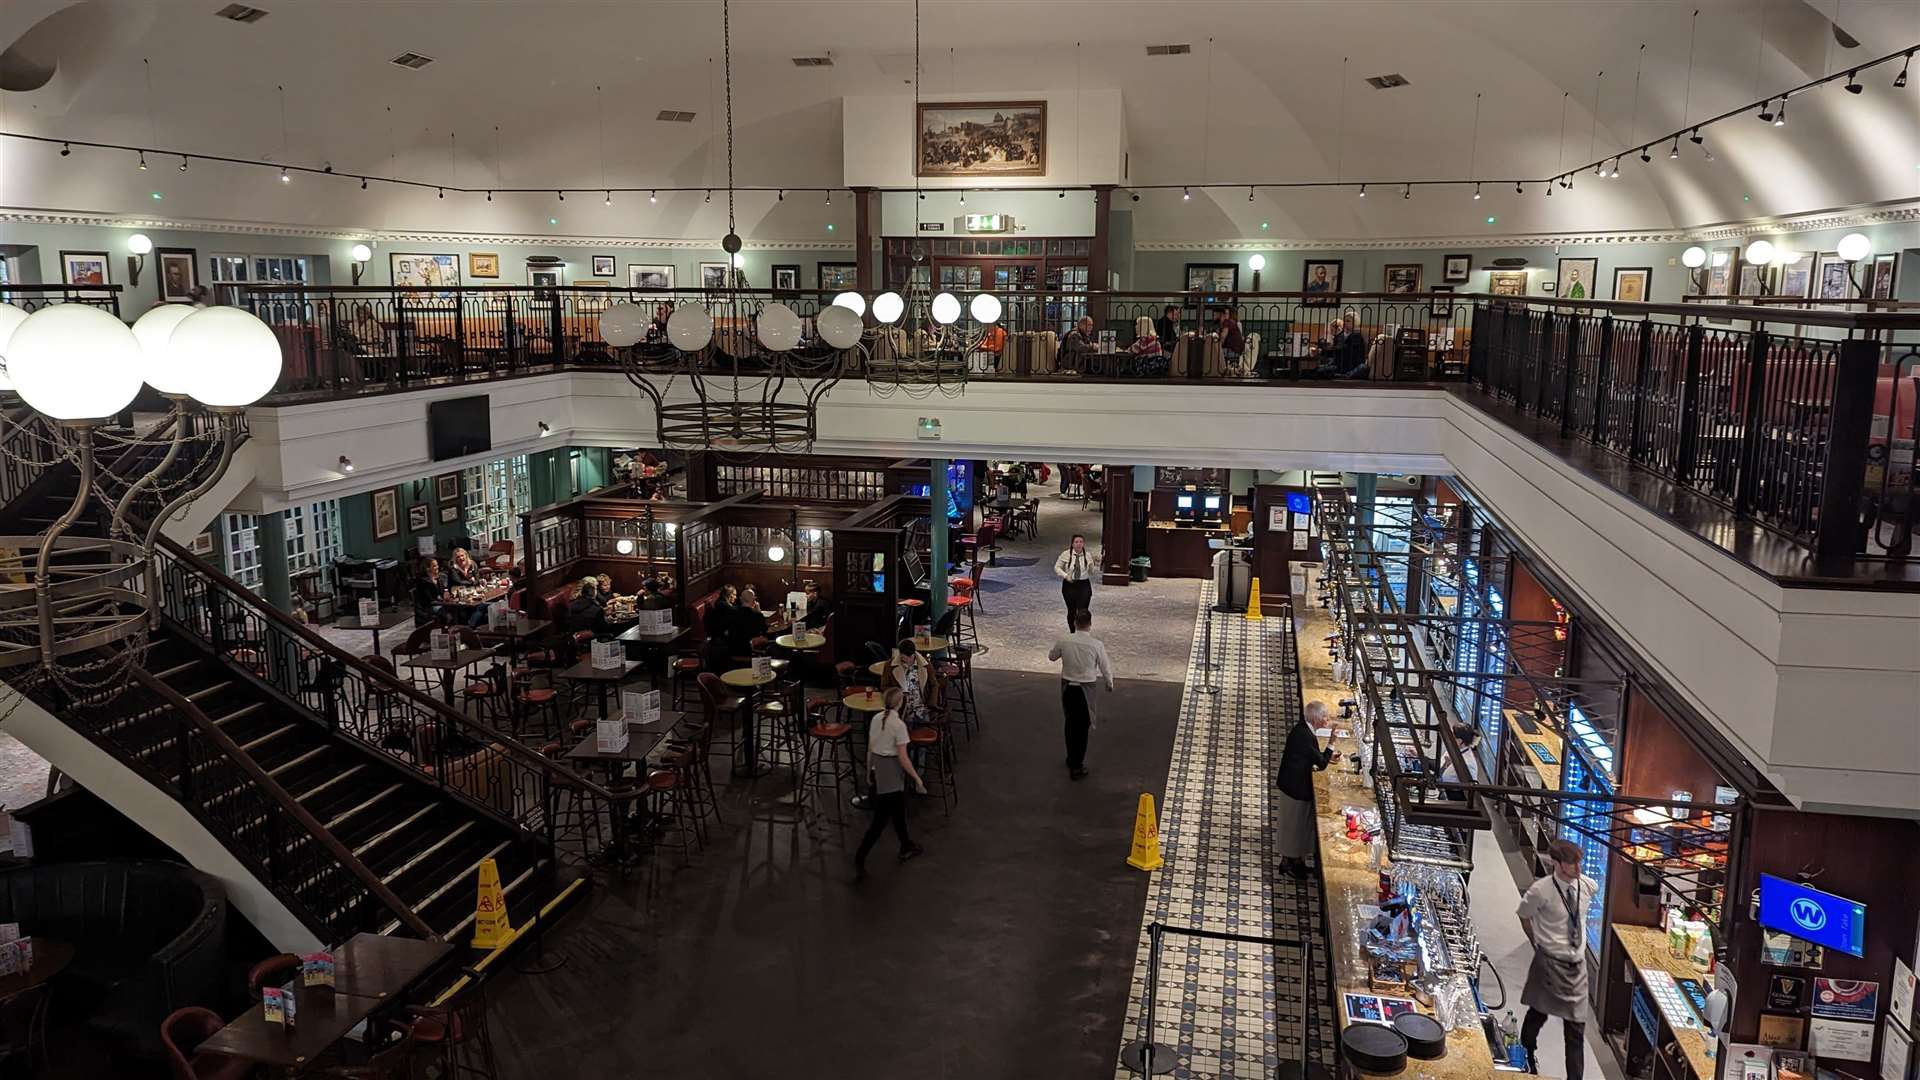
[[[238,307],[169,304],[129,329],[88,304],[0,306],[0,392],[29,409],[0,421],[0,448],[79,475],[42,532],[0,536],[0,669],[38,665],[29,682],[96,701],[125,684],[157,619],[159,528],[227,473],[246,405],[278,377],[278,338]],[[113,427],[142,382],[167,417]]]

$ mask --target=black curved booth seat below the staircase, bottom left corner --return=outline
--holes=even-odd
[[[54,980],[58,1009],[117,1053],[161,1057],[159,1024],[217,1005],[227,976],[219,880],[157,861],[52,863],[0,871],[0,922],[73,945]]]

